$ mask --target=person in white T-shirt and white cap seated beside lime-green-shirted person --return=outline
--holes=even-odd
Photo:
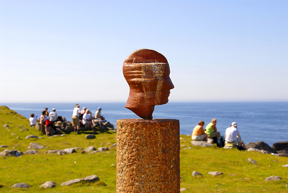
[[[246,150],[246,146],[243,141],[241,141],[240,132],[237,128],[237,123],[233,122],[230,127],[225,131],[225,144],[231,144],[233,146],[242,147]]]

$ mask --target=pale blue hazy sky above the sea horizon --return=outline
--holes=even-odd
[[[288,1],[0,0],[0,102],[125,102],[162,53],[169,101],[288,101]]]

